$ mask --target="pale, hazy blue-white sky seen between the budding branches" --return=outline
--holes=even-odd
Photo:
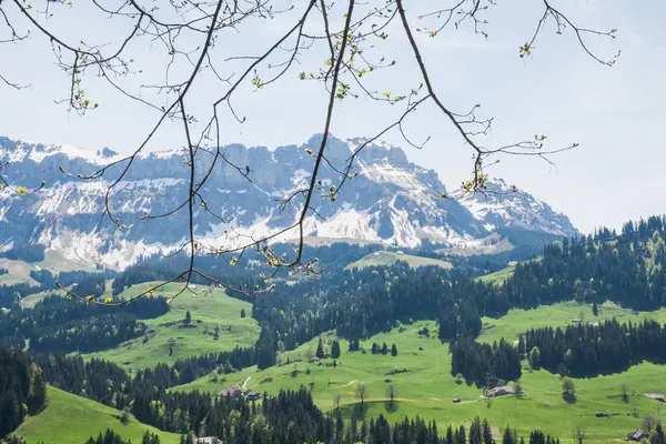
[[[281,0],[293,12],[274,19],[252,22],[221,34],[211,56],[222,75],[241,72],[248,60],[226,60],[232,56],[256,54],[293,26],[302,13],[303,0]],[[33,2],[39,9],[39,1]],[[344,2],[340,2],[341,4]],[[372,1],[371,1],[372,3]],[[420,21],[417,14],[450,2],[405,0],[414,27],[431,29],[436,21]],[[597,226],[620,228],[629,219],[666,212],[666,2],[628,0],[554,0],[551,3],[583,28],[617,29],[616,39],[588,38],[589,48],[604,59],[618,50],[620,57],[612,68],[589,58],[576,41],[573,30],[555,32],[553,21],[535,42],[533,54],[518,57],[518,47],[534,33],[543,13],[536,0],[498,0],[484,16],[488,37],[475,34],[470,24],[431,38],[420,33],[424,62],[434,88],[452,110],[464,112],[481,104],[480,115],[494,118],[487,147],[524,140],[534,134],[548,135],[548,147],[579,143],[575,150],[558,154],[551,165],[535,158],[504,157],[487,170],[502,176],[555,210],[569,216],[583,232]],[[453,4],[453,3],[451,3]],[[17,29],[27,21],[11,2],[1,7]],[[413,8],[413,9],[412,9]],[[342,10],[331,14],[340,26]],[[340,13],[339,13],[340,12]],[[335,16],[335,17],[334,17]],[[129,21],[119,22],[100,14],[88,2],[54,11],[40,22],[68,41],[110,42],[117,47],[131,29]],[[319,22],[312,23],[314,30]],[[369,57],[384,56],[395,60],[390,70],[369,77],[373,90],[401,94],[421,82],[414,57],[401,29],[389,28],[389,38],[367,49]],[[0,41],[7,28],[0,23]],[[115,43],[115,44],[114,44]],[[183,38],[183,44],[195,50],[200,42]],[[164,95],[141,89],[163,78],[169,57],[164,48],[147,39],[128,49],[141,70],[119,84],[167,103]],[[300,65],[280,81],[255,91],[250,80],[234,97],[234,110],[246,117],[239,124],[225,111],[221,121],[222,143],[275,148],[302,144],[323,131],[327,95],[321,83],[297,79],[301,70],[322,65],[326,47],[314,46],[302,51]],[[81,117],[57,103],[67,97],[68,75],[54,63],[49,41],[31,33],[18,44],[0,44],[0,73],[19,81],[26,89],[16,91],[0,82],[0,135],[43,143],[69,143],[89,150],[109,147],[121,153],[132,152],[159,118],[159,112],[128,99],[103,81],[89,75],[85,93],[99,108]],[[279,62],[278,59],[274,62]],[[302,68],[301,68],[302,67]],[[176,64],[172,79],[186,74]],[[265,67],[259,70],[269,77]],[[180,78],[179,78],[180,75]],[[228,87],[210,72],[202,74],[188,99],[191,112],[200,122],[209,115],[211,97]],[[335,104],[331,132],[337,138],[372,137],[396,119],[404,108],[390,107],[365,99],[347,98]],[[201,130],[202,124],[199,124]],[[402,147],[411,161],[437,171],[448,189],[454,189],[471,173],[471,155],[452,124],[432,105],[414,113],[405,123],[405,132],[417,142],[430,137],[417,150],[398,132],[383,139]],[[178,122],[167,122],[147,150],[180,148],[184,143]]]

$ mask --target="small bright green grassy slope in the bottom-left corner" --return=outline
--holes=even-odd
[[[122,437],[140,443],[147,430],[158,432],[162,444],[176,444],[180,436],[160,432],[142,424],[130,415],[130,422],[123,425],[119,417],[121,412],[94,401],[75,396],[58,389],[48,387],[48,405],[36,416],[28,416],[14,432],[23,436],[28,444],[82,444],[90,436],[97,437],[100,432],[113,428]]]

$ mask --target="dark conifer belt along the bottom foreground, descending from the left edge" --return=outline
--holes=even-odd
[[[236,352],[242,353],[242,352]],[[218,362],[231,361],[233,353],[225,356],[220,354]],[[236,356],[240,359],[240,356]],[[103,360],[91,360],[83,363],[80,357],[37,354],[31,357],[24,352],[0,349],[0,363],[2,367],[2,393],[0,398],[12,400],[14,405],[27,403],[29,406],[41,401],[31,401],[38,390],[34,389],[34,375],[30,375],[30,367],[40,366],[42,374],[42,386],[44,380],[53,385],[60,385],[64,390],[102,402],[115,408],[129,408],[134,416],[145,424],[151,424],[160,430],[190,434],[198,436],[216,436],[223,442],[233,440],[236,443],[294,443],[294,442],[329,442],[352,444],[356,442],[373,443],[466,443],[467,438],[464,427],[447,428],[445,435],[440,435],[434,422],[426,423],[416,417],[405,418],[403,422],[389,425],[389,422],[380,417],[365,420],[359,423],[355,418],[346,425],[340,415],[334,413],[324,414],[314,404],[309,391],[301,387],[297,391],[281,391],[275,396],[264,393],[263,402],[258,404],[244,397],[233,398],[231,396],[216,396],[210,393],[167,392],[165,387],[174,383],[183,383],[183,380],[174,379],[179,371],[174,367],[160,366],[153,371],[138,372],[130,377],[124,370],[115,364]],[[200,359],[206,362],[209,359]],[[192,363],[194,363],[193,360]],[[242,365],[242,363],[241,363]],[[178,366],[184,370],[184,364]],[[32,384],[32,385],[31,385]],[[4,395],[11,393],[12,395]],[[18,396],[18,397],[17,397]],[[4,405],[4,404],[2,404]],[[19,416],[3,414],[2,435],[13,431],[22,421]],[[6,418],[13,418],[11,423],[4,423]],[[454,432],[455,431],[455,432]],[[476,418],[468,431],[468,442],[491,443],[487,421],[481,422]],[[515,436],[508,430],[508,436]],[[181,440],[183,443],[191,442],[190,437]],[[504,441],[503,441],[504,442]],[[513,441],[517,442],[517,441]],[[532,440],[529,441],[533,442]],[[534,441],[535,444],[541,444]],[[555,443],[555,441],[552,441]],[[94,438],[90,437],[85,444],[124,444],[118,434],[112,431],[100,433]],[[147,432],[142,444],[157,444],[159,438]],[[551,443],[551,442],[548,442]]]

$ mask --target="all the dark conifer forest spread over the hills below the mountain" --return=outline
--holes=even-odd
[[[634,310],[666,306],[662,271],[666,266],[665,228],[664,218],[649,218],[627,223],[620,234],[602,229],[589,236],[555,241],[545,245],[539,259],[517,264],[505,281],[493,283],[475,279],[478,264],[444,270],[413,269],[397,262],[349,270],[333,261],[317,279],[289,283],[278,280],[270,297],[239,296],[253,302],[252,312],[245,315],[262,326],[254,346],[178,360],[173,365],[160,364],[133,374],[111,362],[84,362],[69,353],[105,350],[141,336],[147,330],[142,320],[169,311],[163,297],[147,296],[111,309],[49,296],[32,309],[22,309],[17,304],[27,291],[22,284],[2,286],[0,300],[9,301],[6,306],[10,310],[0,313],[0,435],[16,430],[27,413],[39,411],[48,383],[119,410],[127,408],[145,424],[182,434],[183,442],[194,432],[199,436],[234,436],[236,442],[249,443],[463,443],[467,437],[485,443],[484,426],[477,428],[478,424],[468,431],[446,432],[418,418],[390,425],[379,416],[345,424],[334,414],[319,410],[305,389],[282,391],[274,396],[263,394],[261,403],[169,389],[211,372],[226,374],[252,365],[268,369],[276,364],[276,352],[293,350],[331,330],[350,340],[350,352],[359,351],[360,340],[415,320],[437,322],[436,335],[448,343],[452,354],[451,373],[462,374],[480,387],[493,386],[497,381],[517,381],[523,372],[522,360],[529,353],[539,356],[533,362],[534,367],[572,376],[617,373],[643,361],[664,363],[666,329],[652,321],[620,324],[610,320],[598,325],[578,322],[564,329],[532,329],[524,332],[518,346],[505,340],[482,344],[475,339],[482,331],[482,316],[498,317],[512,307],[533,309],[571,300],[589,304],[597,312],[606,300]],[[316,254],[322,251],[313,250]],[[350,248],[345,258],[362,258],[367,251],[372,250]],[[118,275],[114,293],[120,294],[133,283],[163,279],[169,269],[151,261],[157,260]],[[258,282],[254,272],[242,268],[220,265],[211,271],[225,278],[228,272],[239,285]],[[33,278],[41,282],[40,289],[53,281],[47,273],[36,273]],[[78,283],[79,289],[93,295],[103,291],[100,276],[62,274],[59,279]],[[20,351],[28,343],[29,354]],[[339,359],[344,352],[334,341],[330,351],[320,343],[316,355]],[[387,360],[403,353],[391,342],[375,343],[370,352]],[[258,411],[265,426],[251,421]],[[147,440],[153,443],[155,438]],[[518,440],[511,430],[505,431],[503,442]],[[89,442],[124,441],[109,431]],[[534,431],[529,442],[556,441]]]

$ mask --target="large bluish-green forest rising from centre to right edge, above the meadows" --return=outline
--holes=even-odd
[[[279,282],[270,299],[255,301],[252,315],[266,329],[264,340],[273,342],[266,347],[278,351],[333,329],[356,340],[413,320],[436,320],[443,341],[476,337],[482,316],[572,299],[654,310],[666,305],[664,221],[653,216],[625,224],[622,234],[601,229],[547,243],[539,261],[517,264],[501,283],[474,280],[465,269],[412,270],[402,262],[333,269],[314,281]]]

